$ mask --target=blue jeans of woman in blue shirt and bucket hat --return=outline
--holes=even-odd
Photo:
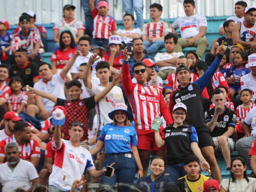
[[[113,168],[115,168],[114,176],[107,178],[105,176],[101,177],[101,184],[108,184],[111,187],[114,187],[116,182],[118,183],[127,183],[132,185],[136,164],[132,154],[131,157],[125,157],[125,154],[108,154],[103,165],[107,166],[115,162]],[[129,187],[118,186],[118,191],[129,192]]]

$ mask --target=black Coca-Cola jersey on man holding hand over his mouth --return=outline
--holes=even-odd
[[[211,132],[212,137],[218,137],[223,135],[227,130],[228,127],[233,127],[235,128],[235,119],[236,115],[235,112],[225,106],[225,111],[219,115],[215,128]],[[205,122],[209,122],[215,112],[215,107],[213,109],[209,109],[205,112]]]

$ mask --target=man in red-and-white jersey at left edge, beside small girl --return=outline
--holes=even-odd
[[[5,80],[8,77],[9,77],[8,66],[5,64],[0,64],[0,105],[3,105],[5,103],[6,97],[8,98],[12,92],[11,88],[5,82]]]

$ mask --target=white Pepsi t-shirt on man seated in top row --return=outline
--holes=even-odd
[[[178,17],[172,24],[174,29],[180,28],[181,38],[194,37],[199,33],[199,27],[206,26],[207,21],[203,15],[191,15]]]

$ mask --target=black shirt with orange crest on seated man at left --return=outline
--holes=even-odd
[[[33,79],[40,78],[38,75],[38,67],[35,63],[27,62],[24,68],[20,68],[17,64],[11,65],[9,70],[9,78],[14,76],[19,76],[22,78],[24,86],[29,85],[30,87],[34,86]]]

